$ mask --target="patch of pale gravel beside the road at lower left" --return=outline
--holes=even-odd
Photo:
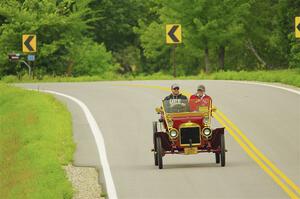
[[[75,191],[73,199],[104,199],[95,168],[68,165],[64,169]]]

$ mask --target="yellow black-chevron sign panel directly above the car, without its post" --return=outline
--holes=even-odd
[[[167,24],[166,25],[166,43],[167,44],[182,43],[181,25],[180,24]]]

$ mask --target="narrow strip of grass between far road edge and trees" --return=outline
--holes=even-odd
[[[272,70],[272,71],[222,71],[211,74],[200,73],[194,76],[179,76],[156,73],[153,75],[117,75],[107,73],[102,76],[81,76],[81,77],[52,77],[44,76],[41,80],[30,80],[24,77],[19,81],[16,76],[6,76],[1,81],[6,83],[17,82],[86,82],[86,81],[118,81],[118,80],[247,80],[260,82],[277,82],[300,87],[300,69]]]

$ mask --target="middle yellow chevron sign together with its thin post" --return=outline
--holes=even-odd
[[[180,24],[167,24],[166,25],[166,43],[173,44],[173,75],[176,77],[176,46],[182,43],[181,25]]]

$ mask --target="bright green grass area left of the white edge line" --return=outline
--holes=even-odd
[[[0,198],[72,198],[71,115],[54,97],[0,83]]]

